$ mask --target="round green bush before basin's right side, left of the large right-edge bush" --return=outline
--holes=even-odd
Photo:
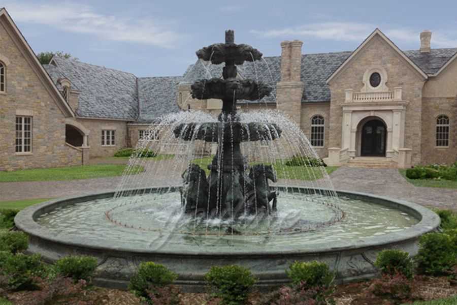
[[[394,276],[400,273],[407,279],[412,279],[414,264],[409,254],[400,250],[383,250],[376,257],[375,266],[382,274]]]

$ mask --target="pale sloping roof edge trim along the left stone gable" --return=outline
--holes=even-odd
[[[48,75],[46,70],[43,68],[43,66],[40,64],[37,56],[35,55],[35,52],[31,49],[30,45],[28,44],[27,40],[24,38],[22,33],[20,32],[19,28],[17,25],[14,23],[13,19],[11,16],[8,14],[8,11],[5,8],[0,9],[0,18],[4,18],[6,20],[7,24],[9,24],[13,30],[13,35],[15,35],[15,38],[17,39],[17,42],[21,44],[21,47],[19,48],[21,51],[24,53],[24,57],[26,57],[27,62],[32,66],[32,70],[37,73],[39,78],[43,81],[43,84],[45,87],[48,89],[49,94],[51,97],[54,98],[54,101],[57,104],[57,107],[62,111],[62,114],[64,116],[71,116],[74,117],[75,113],[70,107],[70,105],[67,103],[66,100],[63,99],[62,95],[60,94],[59,90],[57,89],[55,83],[51,79],[51,77]]]

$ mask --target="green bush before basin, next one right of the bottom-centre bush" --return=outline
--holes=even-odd
[[[335,278],[329,266],[318,261],[295,262],[290,265],[286,273],[293,285],[306,282],[309,287],[329,287]]]

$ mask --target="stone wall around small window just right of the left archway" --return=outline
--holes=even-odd
[[[90,158],[111,157],[117,150],[127,147],[126,121],[85,118],[78,118],[77,121],[90,131],[88,142]],[[114,146],[102,146],[102,130],[116,131]]]

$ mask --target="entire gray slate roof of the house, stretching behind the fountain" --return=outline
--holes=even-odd
[[[430,53],[419,50],[404,51],[422,71],[433,75],[443,67],[457,48],[432,49]],[[351,51],[302,55],[301,78],[304,82],[303,103],[330,101],[327,79],[352,54]],[[179,111],[176,103],[177,84],[192,83],[199,79],[222,77],[221,65],[212,65],[197,60],[183,76],[142,77],[105,67],[89,65],[74,59],[54,57],[57,66],[44,65],[53,81],[68,78],[73,88],[80,93],[81,117],[117,118],[150,123],[157,117]],[[238,66],[238,77],[268,83],[273,87],[270,97],[261,101],[239,101],[240,103],[275,102],[276,83],[280,81],[281,57],[264,57],[255,64],[245,62]]]

